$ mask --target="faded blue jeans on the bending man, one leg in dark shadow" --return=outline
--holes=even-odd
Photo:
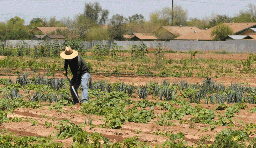
[[[79,88],[79,86],[81,84],[81,88],[83,90],[81,102],[88,101],[88,81],[90,79],[90,76],[91,76],[90,73],[85,73],[84,75],[82,75],[81,81],[75,80],[73,78],[71,79],[71,83],[74,85],[76,94],[78,94],[77,89]],[[70,85],[70,92],[71,92],[74,104],[79,103],[78,98],[76,97],[76,94],[74,93],[71,85]]]

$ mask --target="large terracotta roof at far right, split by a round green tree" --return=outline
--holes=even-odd
[[[251,30],[251,28],[256,28],[256,23],[224,23],[232,28],[234,35],[246,35],[246,32]],[[216,27],[216,26],[215,26]],[[213,27],[213,28],[215,28]],[[184,36],[179,36],[174,38],[174,40],[201,40],[201,41],[210,41],[212,28],[208,30],[202,30],[200,32],[193,32],[186,34]]]

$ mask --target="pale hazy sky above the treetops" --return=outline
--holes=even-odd
[[[102,9],[109,10],[109,19],[116,14],[126,18],[142,14],[148,21],[150,14],[156,10],[166,6],[172,8],[172,0],[1,0],[0,22],[6,23],[15,16],[24,19],[24,25],[29,25],[33,18],[74,18],[84,12],[84,4],[89,2],[99,2]],[[188,18],[198,19],[211,17],[212,14],[233,17],[239,10],[248,9],[249,3],[256,6],[256,0],[174,0],[174,6],[180,5],[188,11]]]

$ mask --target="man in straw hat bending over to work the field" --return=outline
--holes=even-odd
[[[77,93],[77,89],[81,84],[83,89],[82,91],[82,103],[88,101],[88,81],[90,78],[90,69],[78,55],[78,52],[72,50],[71,47],[66,47],[65,51],[60,53],[60,57],[65,59],[64,68],[65,71],[63,72],[64,75],[68,75],[68,65],[70,67],[70,71],[73,74],[71,79],[71,84],[74,86],[74,89]],[[70,92],[73,98],[74,104],[79,103],[78,98],[76,97],[74,91],[72,90],[72,85],[70,85]]]

